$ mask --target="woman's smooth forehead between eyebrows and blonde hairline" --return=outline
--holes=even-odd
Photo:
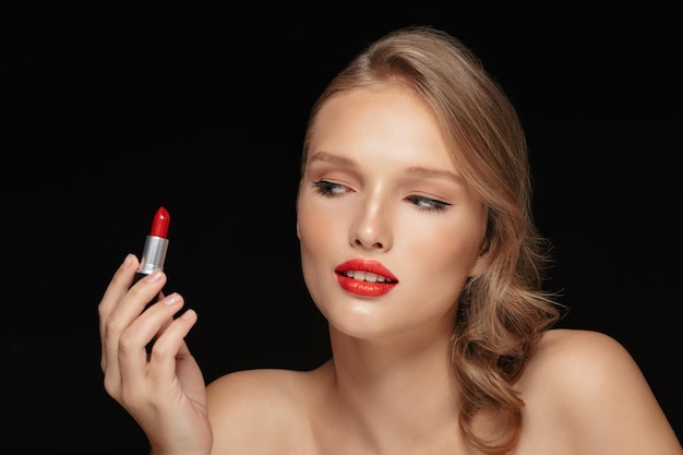
[[[452,152],[436,116],[405,86],[338,93],[320,109],[310,133],[309,158],[325,152],[454,170]]]

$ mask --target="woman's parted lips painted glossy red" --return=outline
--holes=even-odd
[[[398,285],[398,278],[378,261],[352,259],[335,268],[339,286],[362,297],[380,297]]]

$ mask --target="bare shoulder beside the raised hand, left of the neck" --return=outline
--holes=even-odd
[[[247,370],[207,385],[214,454],[305,453],[311,409],[326,367],[312,371]]]

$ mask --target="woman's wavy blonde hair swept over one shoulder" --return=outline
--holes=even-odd
[[[439,119],[454,163],[487,208],[481,254],[486,270],[466,283],[458,302],[451,364],[462,391],[459,427],[487,455],[512,451],[522,431],[524,402],[514,384],[546,330],[561,318],[542,290],[549,244],[530,214],[527,144],[503,89],[459,40],[429,26],[390,33],[333,79],[311,110],[302,166],[321,107],[340,92],[402,84]],[[480,411],[502,411],[504,431],[474,431]]]

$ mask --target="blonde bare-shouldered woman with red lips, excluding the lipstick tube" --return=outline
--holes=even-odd
[[[161,454],[682,452],[632,357],[554,330],[518,118],[475,56],[410,27],[313,106],[297,232],[333,357],[205,387],[196,313],[129,255],[99,304],[107,392]],[[149,356],[145,345],[156,335]]]

